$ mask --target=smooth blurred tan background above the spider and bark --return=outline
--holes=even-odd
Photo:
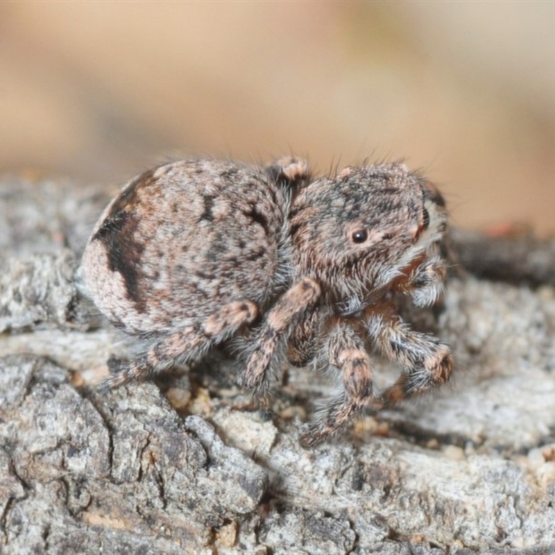
[[[0,3],[0,171],[404,157],[468,228],[555,232],[555,3]]]

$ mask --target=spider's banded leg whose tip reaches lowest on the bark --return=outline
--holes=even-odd
[[[343,393],[332,400],[323,418],[302,435],[311,447],[335,434],[373,400],[372,368],[364,341],[345,322],[337,322],[327,341],[329,362],[341,374]]]

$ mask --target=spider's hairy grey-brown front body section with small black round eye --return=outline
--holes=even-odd
[[[314,278],[337,302],[387,287],[441,239],[445,213],[428,191],[404,164],[345,168],[311,182],[289,216],[296,277]]]

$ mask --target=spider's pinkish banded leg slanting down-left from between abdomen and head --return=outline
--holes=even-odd
[[[280,340],[287,341],[293,326],[310,311],[321,296],[321,288],[314,280],[303,278],[293,284],[268,312],[255,336],[250,357],[237,381],[253,391],[263,410],[268,410],[270,379],[268,369]]]

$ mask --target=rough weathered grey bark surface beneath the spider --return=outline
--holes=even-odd
[[[413,315],[452,344],[451,386],[304,450],[303,421],[332,387],[311,370],[287,370],[274,422],[248,410],[223,357],[164,393],[94,391],[127,348],[73,278],[107,201],[71,183],[0,183],[1,553],[555,550],[553,244],[538,247],[537,280],[509,272],[535,291],[453,278],[435,322]],[[472,248],[490,248],[472,241],[454,235],[470,268]],[[504,248],[516,268],[520,247]]]

